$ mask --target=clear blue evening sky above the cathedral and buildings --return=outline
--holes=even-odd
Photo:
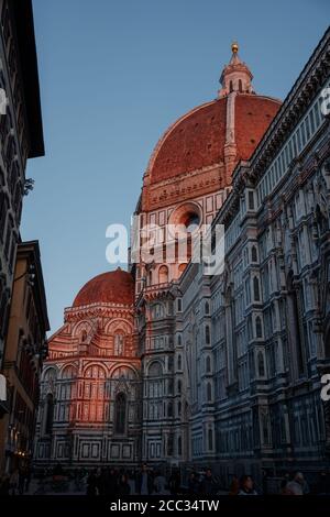
[[[329,22],[326,0],[34,0],[46,155],[31,160],[22,239],[38,239],[52,332],[110,268],[166,128],[216,98],[238,40],[257,92],[285,98]]]

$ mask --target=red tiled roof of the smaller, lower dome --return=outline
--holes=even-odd
[[[73,307],[91,304],[127,304],[134,301],[134,280],[120,267],[91,278],[77,294]]]

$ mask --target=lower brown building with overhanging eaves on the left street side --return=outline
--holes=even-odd
[[[31,461],[47,330],[38,243],[19,243],[3,358],[9,413],[0,420],[1,473],[11,474]]]

